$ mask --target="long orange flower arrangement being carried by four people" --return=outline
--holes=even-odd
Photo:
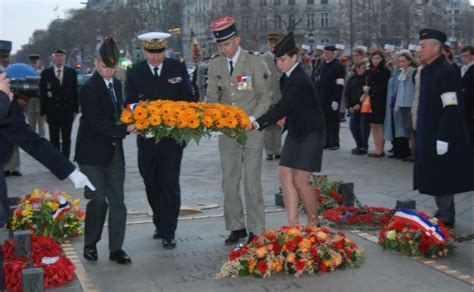
[[[156,142],[169,137],[178,143],[199,143],[212,132],[222,132],[242,145],[247,141],[245,128],[250,125],[247,113],[236,106],[171,100],[129,105],[122,111],[120,121],[134,124],[140,134],[154,136]]]

